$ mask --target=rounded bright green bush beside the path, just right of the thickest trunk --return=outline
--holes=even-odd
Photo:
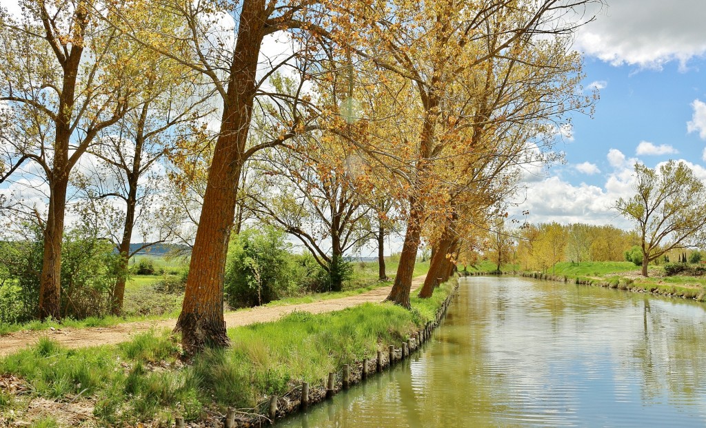
[[[296,290],[285,233],[273,227],[244,230],[233,237],[225,273],[231,307],[265,304]]]

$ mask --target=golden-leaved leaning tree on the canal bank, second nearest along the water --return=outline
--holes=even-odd
[[[579,23],[566,20],[563,15],[587,3],[546,0],[520,6],[520,1],[487,0],[469,7],[454,0],[433,4],[390,1],[388,7],[370,9],[385,16],[364,21],[369,23],[364,28],[368,35],[364,40],[371,42],[372,47],[360,49],[359,55],[406,81],[408,90],[416,90],[414,105],[408,107],[414,107],[419,118],[412,126],[417,136],[409,140],[406,153],[407,231],[395,284],[388,297],[391,301],[409,307],[422,227],[429,211],[434,210],[429,204],[441,204],[448,198],[439,197],[433,190],[437,180],[433,167],[442,159],[440,154],[445,147],[462,144],[447,138],[439,126],[456,119],[472,121],[471,117],[452,117],[453,109],[448,108],[449,104],[467,100],[464,97],[468,94],[460,89],[462,83],[472,81],[474,72],[493,58],[512,58],[532,49],[540,35],[551,38],[573,32]],[[539,57],[537,60],[527,64],[542,69],[542,61]]]

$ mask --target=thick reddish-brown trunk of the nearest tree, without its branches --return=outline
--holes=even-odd
[[[264,36],[265,1],[241,6],[221,130],[203,198],[191,254],[186,294],[175,331],[187,355],[229,344],[223,319],[223,279],[238,182],[252,116],[258,54]]]

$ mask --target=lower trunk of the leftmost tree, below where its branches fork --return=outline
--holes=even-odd
[[[49,214],[44,227],[44,257],[40,275],[39,317],[61,319],[61,241],[64,239],[68,174],[54,179],[49,195]]]

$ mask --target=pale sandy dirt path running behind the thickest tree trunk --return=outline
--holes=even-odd
[[[419,287],[422,283],[424,283],[424,275],[414,278],[412,280],[412,290]],[[227,327],[237,327],[257,322],[275,321],[293,311],[307,311],[312,314],[339,311],[366,302],[382,302],[385,297],[388,297],[391,289],[392,287],[380,287],[360,295],[340,297],[338,299],[321,300],[312,303],[283,304],[275,307],[256,307],[253,309],[227,312],[225,314],[225,323]],[[130,336],[135,333],[148,331],[151,328],[157,330],[168,328],[171,330],[176,323],[177,319],[163,319],[157,321],[121,323],[112,327],[18,331],[17,333],[0,337],[0,357],[21,350],[24,347],[34,345],[39,338],[44,336],[52,338],[59,344],[71,348],[114,345],[128,340]]]

